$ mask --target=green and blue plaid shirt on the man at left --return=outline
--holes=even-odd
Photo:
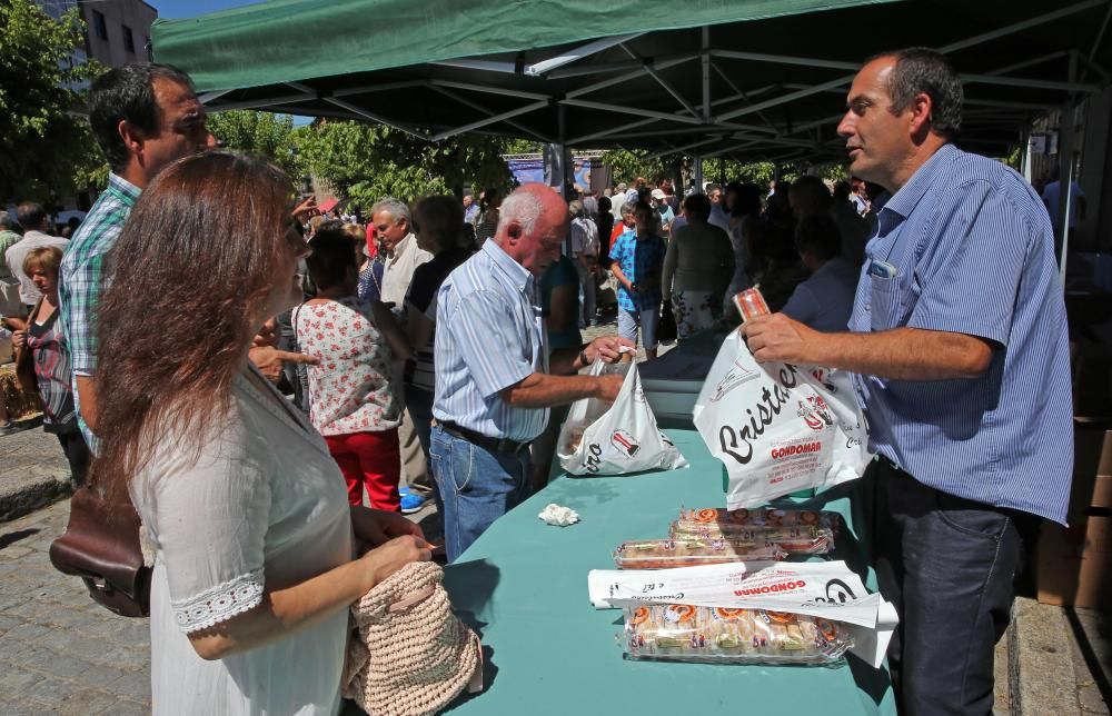
[[[73,400],[78,425],[93,453],[97,441],[81,418],[81,399],[77,376],[92,376],[97,368],[97,302],[103,290],[101,269],[105,255],[123,230],[131,209],[139,199],[139,188],[115,173],[108,176],[108,188],[85,217],[73,235],[69,250],[62,257],[58,286],[62,331],[70,347],[73,367]]]

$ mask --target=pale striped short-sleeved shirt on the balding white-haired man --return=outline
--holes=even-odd
[[[515,408],[499,396],[548,369],[537,284],[495,241],[448,275],[437,294],[434,418],[517,441],[544,431],[548,408]]]

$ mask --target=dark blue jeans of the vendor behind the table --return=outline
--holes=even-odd
[[[876,580],[900,613],[888,645],[906,716],[989,714],[993,646],[1039,518],[947,495],[876,460]]]

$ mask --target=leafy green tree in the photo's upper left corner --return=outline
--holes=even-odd
[[[49,200],[107,178],[79,111],[102,69],[75,61],[82,30],[77,8],[54,20],[32,0],[0,2],[0,198]]]

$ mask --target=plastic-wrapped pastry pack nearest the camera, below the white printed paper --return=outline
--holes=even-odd
[[[851,646],[841,624],[821,617],[681,604],[625,609],[625,653],[634,659],[830,665]]]

